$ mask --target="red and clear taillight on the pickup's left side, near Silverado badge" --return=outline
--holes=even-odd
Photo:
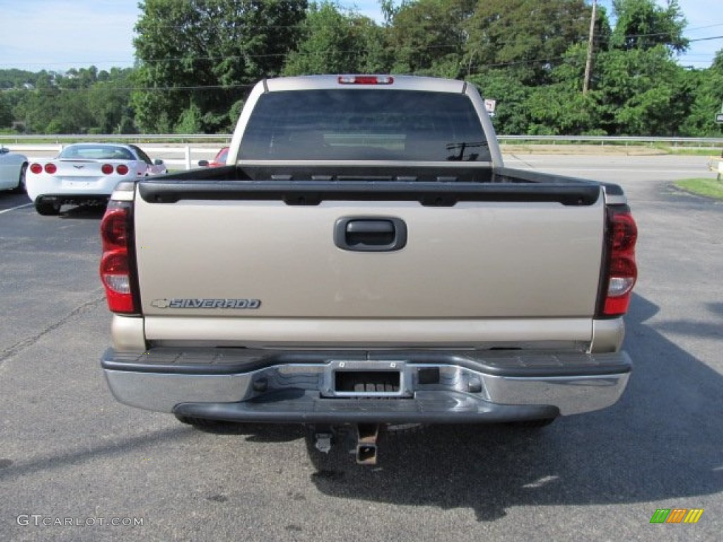
[[[124,314],[137,312],[129,262],[131,241],[129,208],[130,202],[111,201],[100,222],[100,238],[103,241],[100,280],[106,288],[108,309]]]

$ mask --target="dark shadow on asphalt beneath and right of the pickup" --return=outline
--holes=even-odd
[[[657,311],[633,299],[625,349],[634,369],[612,408],[538,430],[431,426],[390,436],[376,467],[357,466],[349,455],[317,469],[312,483],[342,499],[474,509],[479,521],[526,505],[681,499],[693,506],[696,496],[723,491],[723,377],[647,326]],[[690,324],[661,329],[670,326],[685,333]],[[257,427],[251,438],[299,438],[291,427],[268,431]]]

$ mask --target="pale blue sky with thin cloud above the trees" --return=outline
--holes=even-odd
[[[688,20],[685,37],[692,40],[678,58],[681,65],[707,68],[723,49],[723,9],[713,7],[718,1],[679,0]],[[382,21],[377,0],[339,3]],[[612,11],[612,0],[599,4]],[[132,66],[138,15],[137,0],[0,0],[0,69],[64,72]],[[717,39],[705,39],[711,37]]]

